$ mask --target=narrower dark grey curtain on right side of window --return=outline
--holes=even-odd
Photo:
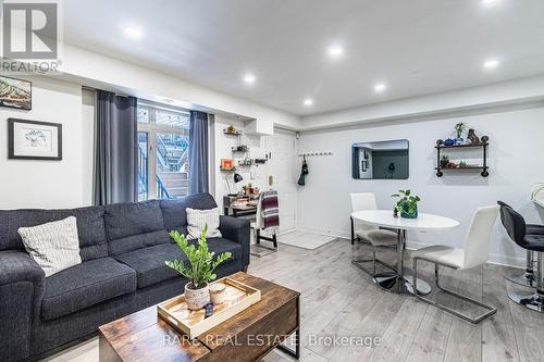
[[[189,195],[209,191],[208,114],[190,112]]]

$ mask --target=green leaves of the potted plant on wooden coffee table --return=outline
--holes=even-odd
[[[208,226],[205,227],[198,238],[198,247],[194,244],[189,245],[187,238],[178,232],[170,232],[170,237],[177,244],[180,249],[187,255],[187,264],[181,260],[166,261],[166,265],[172,267],[177,273],[190,280],[193,289],[203,288],[208,283],[214,280],[218,276],[213,273],[215,267],[221,263],[232,258],[232,252],[219,254],[215,259],[215,253],[208,249],[206,234]]]

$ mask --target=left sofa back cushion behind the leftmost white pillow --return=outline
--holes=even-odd
[[[17,234],[20,227],[41,225],[69,216],[77,220],[79,255],[83,261],[108,257],[103,209],[0,210],[0,250],[25,250]]]

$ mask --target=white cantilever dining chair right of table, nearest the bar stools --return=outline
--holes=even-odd
[[[471,299],[469,297],[462,296],[455,291],[445,289],[440,285],[438,265],[450,267],[454,270],[462,271],[469,270],[477,266],[483,265],[487,261],[490,245],[491,245],[491,234],[493,230],[493,225],[498,215],[498,205],[480,208],[474,212],[472,216],[472,222],[470,223],[467,237],[465,239],[465,247],[462,249],[452,248],[447,246],[435,245],[426,248],[419,249],[412,253],[413,257],[413,294],[415,296],[430,303],[438,309],[442,309],[448,313],[452,313],[465,321],[472,323],[479,323],[486,317],[495,314],[497,309],[484,304],[478,300]],[[487,312],[477,316],[474,319],[462,314],[452,308],[440,304],[431,299],[424,298],[418,294],[418,262],[424,260],[434,264],[434,279],[436,287],[442,291],[458,297],[462,300],[471,302],[479,305]]]

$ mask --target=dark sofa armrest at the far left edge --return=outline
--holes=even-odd
[[[0,361],[32,353],[33,324],[39,317],[46,273],[21,251],[0,251]]]

